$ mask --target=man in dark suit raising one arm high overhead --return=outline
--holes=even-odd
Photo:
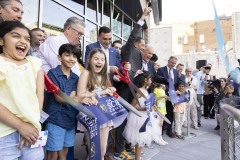
[[[131,64],[131,70],[129,71],[131,80],[133,80],[136,71],[142,68],[142,51],[145,49],[145,41],[140,37],[140,35],[142,25],[145,23],[144,19],[147,15],[149,15],[150,11],[151,8],[144,9],[142,17],[138,23],[135,24],[127,43],[122,47],[121,50],[122,62],[129,62]],[[127,102],[132,102],[133,95],[131,94],[131,91],[127,84],[120,82],[119,87],[117,88],[117,92]],[[118,159],[120,157],[131,159],[131,157],[125,152],[125,147],[127,151],[131,152],[130,146],[124,145],[124,137],[122,135],[126,123],[127,119],[115,129],[115,159]]]

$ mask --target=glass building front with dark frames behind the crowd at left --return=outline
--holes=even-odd
[[[40,27],[47,36],[63,32],[64,22],[71,16],[82,19],[86,24],[82,50],[96,42],[98,29],[108,26],[114,40],[126,43],[134,24],[142,15],[145,0],[21,0],[24,8],[22,22],[30,29]],[[144,29],[147,29],[145,25]],[[146,31],[145,31],[146,32]],[[145,33],[144,32],[144,33]]]

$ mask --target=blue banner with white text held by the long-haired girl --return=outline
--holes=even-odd
[[[127,117],[127,110],[115,97],[105,96],[98,98],[98,105],[87,106],[96,118],[89,118],[83,113],[77,116],[78,121],[85,126],[90,138],[90,160],[101,159],[100,126],[108,121],[113,121],[113,127],[119,126]]]

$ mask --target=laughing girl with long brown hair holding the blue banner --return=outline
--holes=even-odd
[[[79,78],[77,95],[81,103],[91,107],[90,105],[96,106],[98,104],[97,98],[104,95],[112,96],[116,89],[109,84],[106,55],[101,49],[94,49],[91,51],[86,66],[86,69],[82,71]],[[104,159],[108,134],[112,127],[112,121],[108,121],[100,126],[101,158],[97,157],[97,159]],[[86,131],[83,125],[80,126],[80,130]],[[89,143],[88,146],[90,146]]]

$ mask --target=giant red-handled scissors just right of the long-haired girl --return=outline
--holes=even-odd
[[[120,71],[117,71],[117,74],[120,76],[120,80],[125,82],[128,87],[130,88],[130,91],[134,97],[134,99],[137,101],[138,105],[140,106],[140,103],[138,101],[138,98],[136,96],[136,93],[139,93],[144,99],[147,99],[147,97],[140,91],[140,89],[132,83],[131,79],[129,78],[129,74],[128,74],[128,71],[126,69],[124,69],[124,65],[127,64],[128,62],[122,62],[121,65],[120,65],[120,68],[122,70],[122,73]]]

